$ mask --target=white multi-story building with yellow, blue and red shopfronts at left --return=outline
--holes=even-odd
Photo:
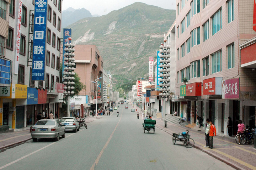
[[[35,1],[23,1],[20,6],[18,0],[9,0],[9,3],[1,0],[1,5],[4,15],[0,18],[0,35],[2,35],[0,38],[4,37],[6,40],[6,49],[2,48],[4,54],[2,56],[5,58],[3,60],[11,61],[9,68],[11,80],[9,87],[5,89],[9,92],[5,91],[6,94],[0,97],[0,108],[3,110],[0,114],[0,125],[8,125],[15,129],[35,124],[37,114],[43,110],[46,116],[52,110],[57,117],[64,90],[63,84],[59,84],[62,0],[48,1],[46,18],[38,20],[39,24],[46,23],[43,81],[32,80]],[[20,25],[18,24],[19,8]],[[9,26],[6,23],[9,23]],[[5,40],[2,41],[2,45],[5,44],[3,43]],[[16,55],[17,42],[19,42],[19,51]],[[62,97],[59,94],[62,94]]]

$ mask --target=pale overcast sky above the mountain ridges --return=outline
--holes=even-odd
[[[85,8],[90,11],[92,15],[101,16],[113,10],[119,10],[134,2],[143,2],[148,5],[159,6],[170,10],[175,10],[176,6],[176,0],[63,0],[63,10],[69,7],[74,9]]]

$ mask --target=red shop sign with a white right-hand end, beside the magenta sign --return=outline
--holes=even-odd
[[[222,77],[203,80],[203,95],[221,95]]]

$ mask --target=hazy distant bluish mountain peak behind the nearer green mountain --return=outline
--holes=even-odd
[[[91,12],[85,8],[75,10],[74,8],[69,7],[62,12],[62,28],[66,28],[66,26],[87,17],[92,17],[92,15]]]

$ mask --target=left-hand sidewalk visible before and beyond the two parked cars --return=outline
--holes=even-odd
[[[96,119],[100,119],[102,116],[89,116],[85,119],[85,123],[90,123]],[[29,128],[29,127],[28,127]],[[28,140],[31,140],[32,137],[30,135],[30,129],[23,128],[24,130],[16,131],[16,132],[9,132],[9,133],[2,133],[0,134],[0,152],[5,148],[12,147],[19,143],[24,143]]]

